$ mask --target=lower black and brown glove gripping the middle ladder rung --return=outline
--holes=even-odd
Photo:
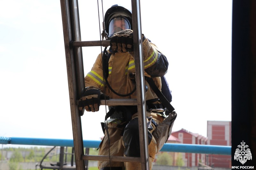
[[[89,88],[85,90],[82,97],[78,100],[78,108],[79,110],[85,108],[87,112],[97,112],[99,111],[100,100],[104,98],[105,95],[99,89]]]

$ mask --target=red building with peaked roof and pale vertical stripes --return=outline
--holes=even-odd
[[[203,137],[198,133],[189,132],[186,129],[181,129],[172,132],[172,136],[178,138],[182,144],[206,144],[207,137]],[[206,154],[199,153],[181,153],[185,165],[187,167],[198,166],[198,162],[206,163]]]

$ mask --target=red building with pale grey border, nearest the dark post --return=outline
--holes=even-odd
[[[207,144],[231,146],[231,122],[207,121]],[[207,155],[206,165],[212,167],[231,168],[230,155]]]

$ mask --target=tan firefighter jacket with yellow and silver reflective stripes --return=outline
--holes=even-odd
[[[150,72],[149,68],[154,64],[156,65],[159,57],[161,57],[161,54],[157,51],[156,45],[149,42],[148,39],[143,41],[144,70],[148,69]],[[130,73],[135,73],[135,63],[133,55],[129,52],[112,54],[108,61],[108,73],[108,82],[116,92],[120,94],[127,94],[132,92],[132,90],[135,88],[136,84],[134,77],[130,76]],[[92,67],[92,70],[84,78],[85,87],[97,87],[107,96],[109,96],[110,99],[137,99],[136,91],[130,96],[120,97],[113,93],[107,85],[105,85],[104,89],[102,74],[102,58],[101,54],[99,54]],[[144,71],[144,74],[145,76],[150,77],[146,71]],[[154,77],[153,79],[156,86],[161,90],[161,78]],[[146,92],[146,100],[158,98],[156,94],[150,89],[147,81],[145,81],[145,85],[148,86],[148,90]]]

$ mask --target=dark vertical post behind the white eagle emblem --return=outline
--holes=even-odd
[[[233,0],[232,11],[232,156],[244,141],[256,156],[256,1]],[[242,164],[232,159],[232,166]],[[246,161],[255,166],[255,160]]]

